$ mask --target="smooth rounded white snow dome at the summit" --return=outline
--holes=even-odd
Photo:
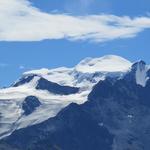
[[[131,65],[130,61],[120,56],[106,55],[100,58],[86,58],[76,66],[76,70],[84,73],[125,72]]]

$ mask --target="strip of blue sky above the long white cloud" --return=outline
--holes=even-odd
[[[99,14],[110,13],[115,15],[145,15],[150,11],[149,0],[30,0],[34,6],[43,11],[58,11],[62,13]],[[81,4],[88,3],[86,6]]]

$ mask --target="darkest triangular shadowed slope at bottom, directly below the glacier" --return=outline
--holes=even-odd
[[[24,134],[24,135],[23,135]],[[23,138],[22,138],[23,137]],[[3,142],[19,150],[111,150],[113,136],[77,104],[70,104],[56,117],[21,129]]]

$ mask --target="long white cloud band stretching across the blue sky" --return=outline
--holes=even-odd
[[[48,14],[26,0],[0,1],[0,41],[44,39],[92,40],[97,42],[135,37],[150,28],[150,17],[115,15],[71,16]]]

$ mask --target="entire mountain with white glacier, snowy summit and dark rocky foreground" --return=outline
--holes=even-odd
[[[149,150],[149,78],[113,55],[25,72],[0,90],[0,148]]]

